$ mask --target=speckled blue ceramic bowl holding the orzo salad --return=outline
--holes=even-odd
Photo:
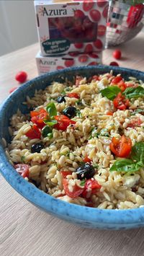
[[[23,113],[28,112],[27,107],[22,105],[22,102],[24,102],[27,95],[32,97],[35,93],[35,89],[45,89],[52,81],[63,82],[63,79],[66,78],[72,80],[73,76],[77,74],[81,76],[92,76],[94,74],[107,73],[110,70],[113,70],[114,74],[122,74],[125,79],[129,76],[135,76],[144,81],[144,73],[140,71],[112,66],[89,66],[45,74],[32,81],[27,81],[27,83],[12,93],[0,108],[0,169],[6,181],[9,182],[19,194],[38,208],[53,216],[91,229],[131,229],[144,226],[144,208],[131,210],[101,210],[98,208],[77,206],[55,199],[43,193],[34,185],[31,185],[15,172],[6,158],[4,145],[2,143],[2,138],[5,138],[7,142],[11,139],[8,131],[9,118],[17,112],[17,108],[22,110]]]

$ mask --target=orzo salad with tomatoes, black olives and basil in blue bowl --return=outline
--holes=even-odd
[[[6,155],[25,180],[68,203],[144,206],[144,84],[96,74],[36,91],[12,116]]]

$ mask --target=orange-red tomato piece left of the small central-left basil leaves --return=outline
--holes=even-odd
[[[36,123],[38,128],[42,129],[45,126],[43,120],[48,118],[48,112],[44,109],[41,109],[39,111],[31,111],[30,116],[32,123]]]

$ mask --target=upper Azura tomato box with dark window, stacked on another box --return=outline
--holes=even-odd
[[[109,1],[35,1],[43,56],[104,49]]]

